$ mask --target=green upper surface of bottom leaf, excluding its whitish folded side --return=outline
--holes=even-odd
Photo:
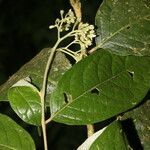
[[[128,150],[126,137],[119,122],[110,124],[106,130],[93,142],[89,150]]]

